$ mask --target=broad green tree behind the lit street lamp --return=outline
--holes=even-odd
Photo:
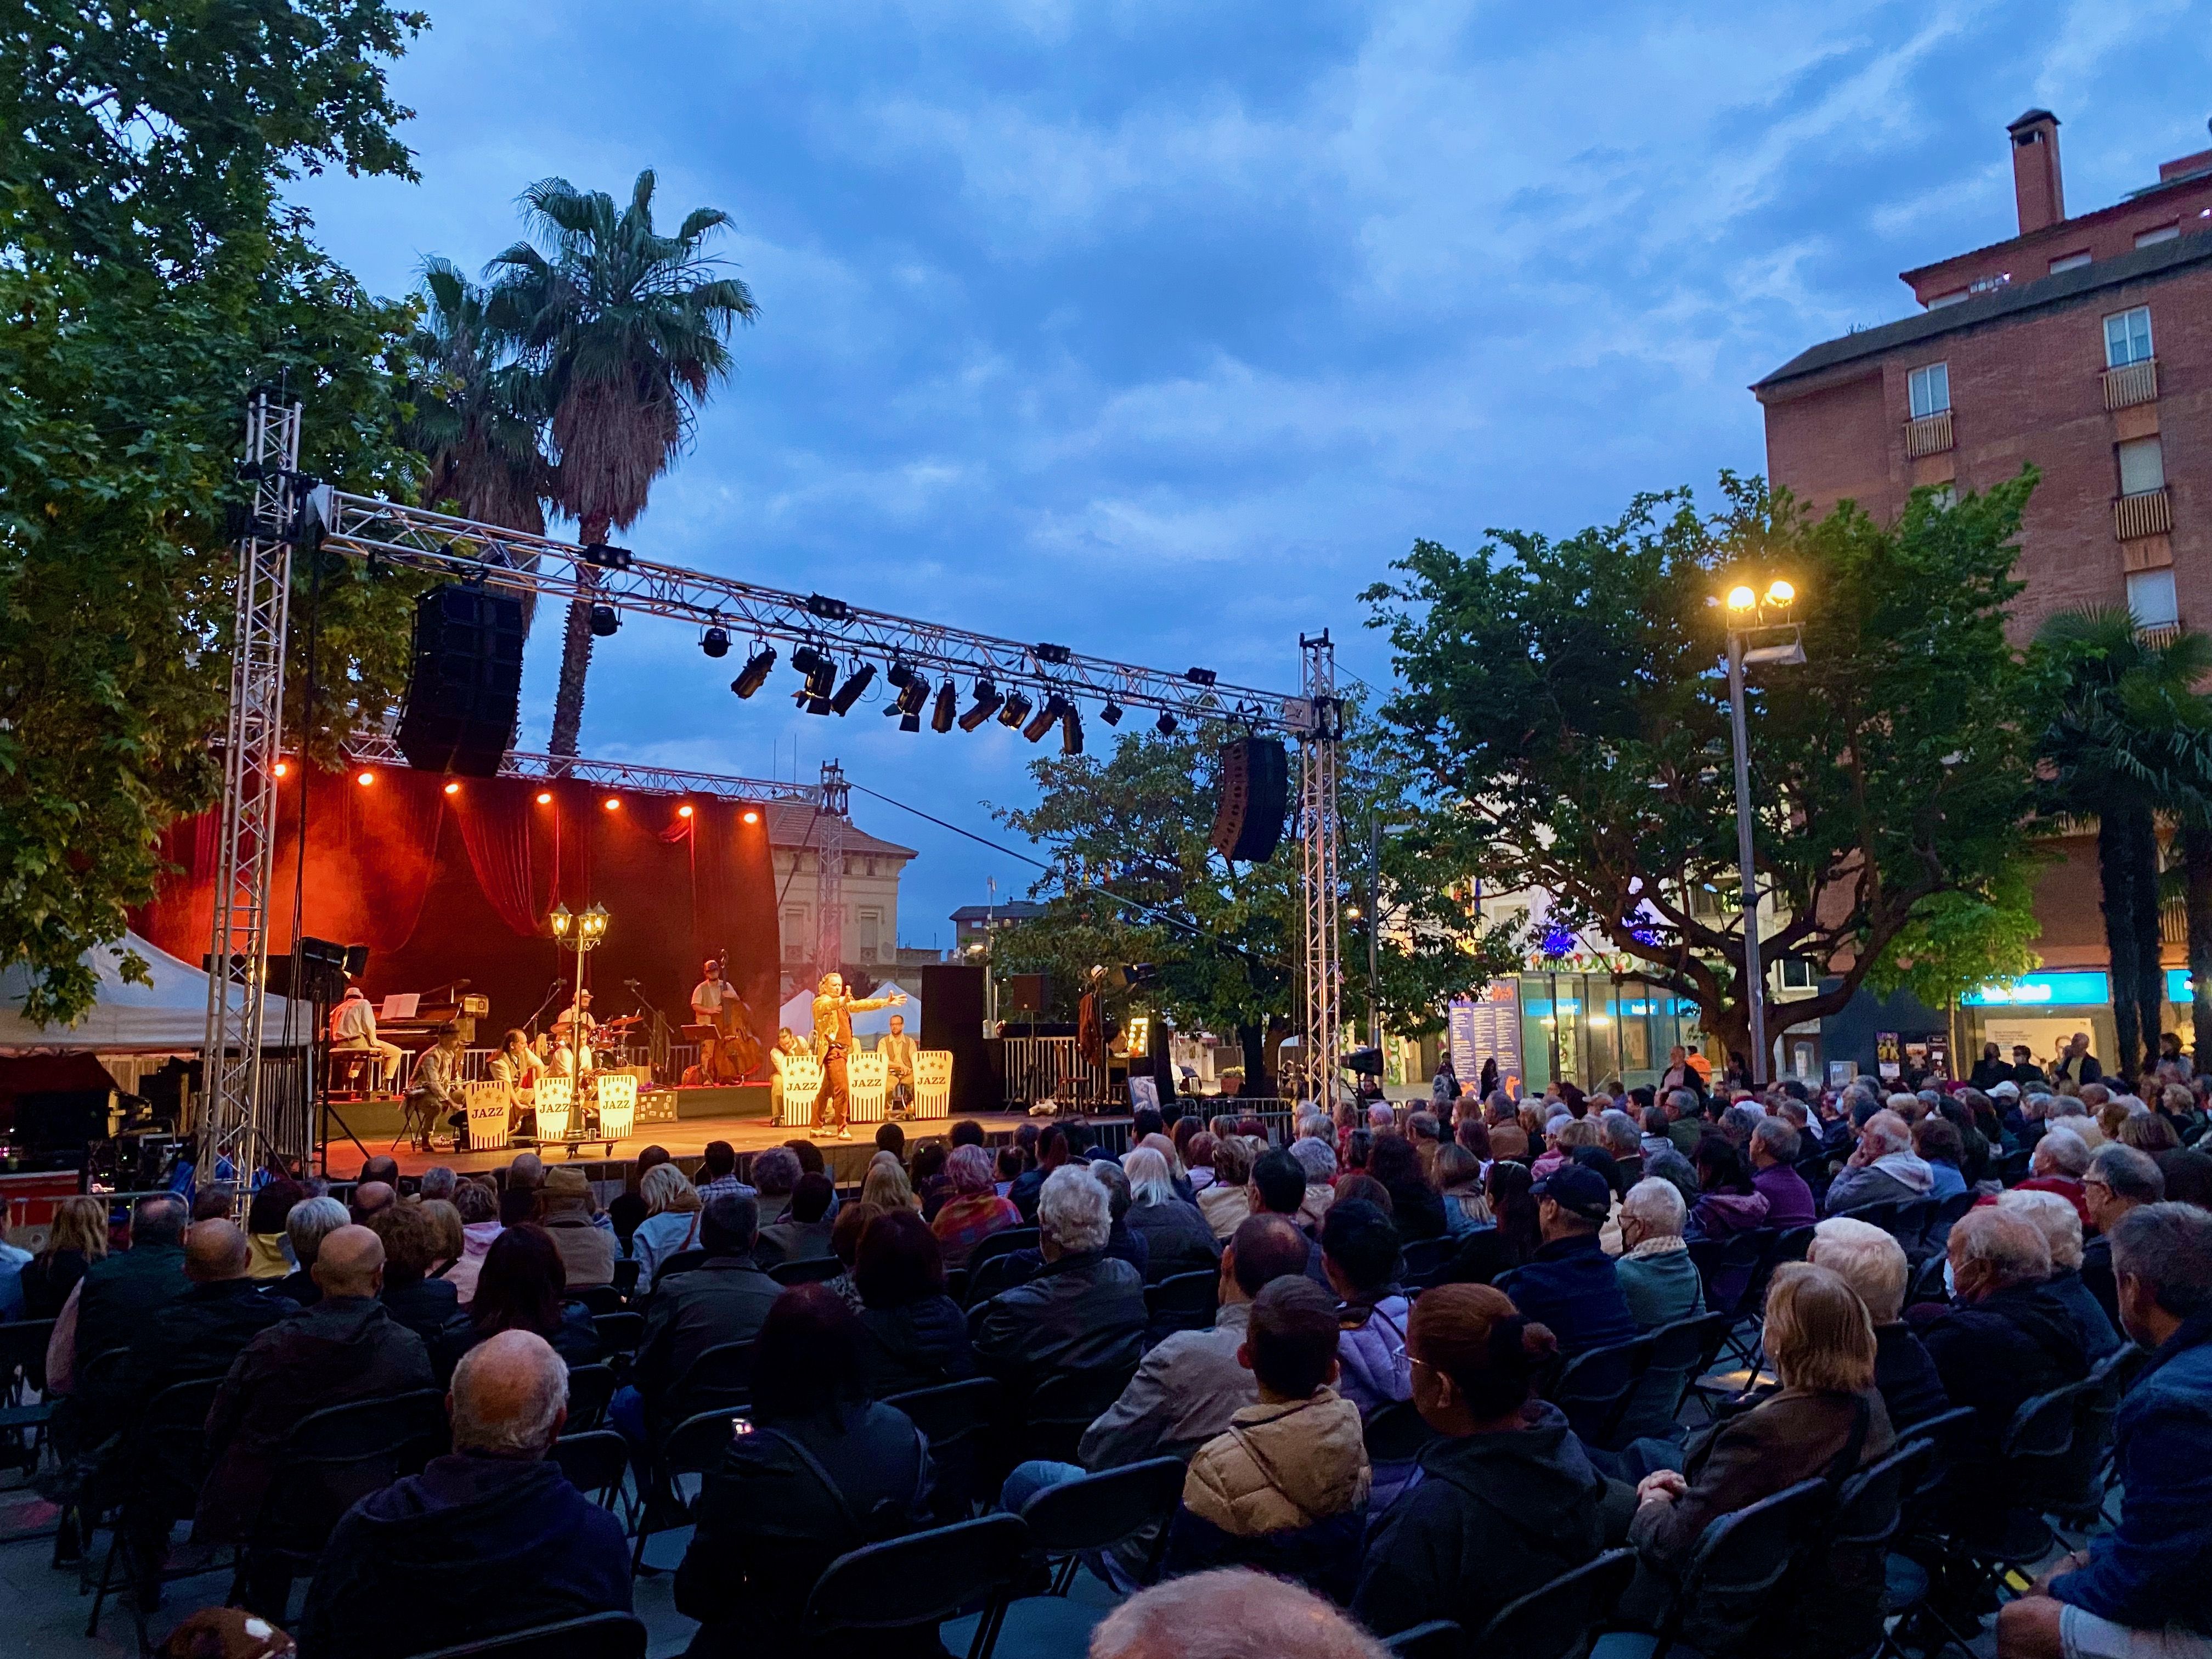
[[[1714,595],[1787,577],[1807,661],[1754,668],[1747,692],[1754,867],[1778,916],[1763,956],[1834,975],[1792,1020],[1836,1013],[1905,929],[1947,894],[1995,900],[2022,856],[2031,745],[2004,608],[2033,482],[1949,509],[1920,493],[1882,526],[1851,504],[1807,522],[1721,473],[1712,515],[1670,491],[1562,540],[1416,542],[1365,599],[1400,679],[1383,719],[1433,834],[1493,891],[1548,894],[1555,920],[1747,1053],[1750,998],[1772,993],[1747,984],[1734,918],[1692,902],[1739,887]]]

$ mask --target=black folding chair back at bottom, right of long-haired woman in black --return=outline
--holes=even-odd
[[[995,1601],[1022,1568],[1029,1528],[1013,1515],[933,1526],[830,1562],[807,1597],[805,1632],[920,1630],[980,1608],[969,1659],[989,1659]]]

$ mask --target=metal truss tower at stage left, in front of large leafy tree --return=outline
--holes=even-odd
[[[292,529],[301,405],[257,392],[246,414],[239,476],[252,511],[239,538],[239,591],[230,635],[230,728],[208,951],[208,1035],[201,1048],[197,1168],[212,1181],[221,1159],[259,1157],[261,1015],[268,975],[270,856],[276,847],[276,757],[283,743],[283,641],[292,599]],[[292,1148],[301,1150],[301,1148]]]

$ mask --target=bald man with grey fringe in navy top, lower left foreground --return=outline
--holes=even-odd
[[[453,1453],[354,1504],[323,1546],[301,1648],[405,1659],[460,1641],[630,1610],[622,1522],[546,1453],[568,1367],[531,1332],[469,1349],[447,1396]]]

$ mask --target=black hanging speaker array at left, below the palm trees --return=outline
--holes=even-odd
[[[522,697],[522,599],[449,582],[416,599],[414,668],[400,712],[407,765],[498,776]]]

